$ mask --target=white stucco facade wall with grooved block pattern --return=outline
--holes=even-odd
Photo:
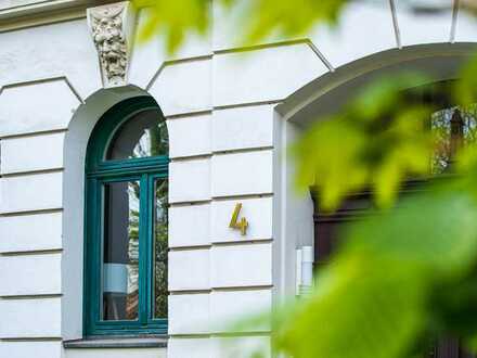
[[[233,14],[214,3],[210,34],[191,36],[173,56],[160,36],[136,44],[129,81],[155,98],[170,135],[168,357],[225,357],[231,341],[267,344],[269,327],[232,338],[223,322],[292,293],[291,252],[310,240],[311,207],[284,190],[284,146],[298,130],[282,127],[276,104],[373,53],[477,35],[462,14],[423,21],[391,4],[353,3],[335,29],[273,37],[243,51]],[[162,357],[164,349],[62,348],[62,340],[81,332],[81,274],[65,278],[81,269],[82,255],[82,243],[68,242],[82,233],[72,235],[63,220],[64,188],[81,193],[82,181],[65,176],[63,153],[65,145],[78,157],[86,150],[85,139],[65,138],[68,128],[81,128],[77,108],[102,86],[86,20],[1,33],[0,43],[0,357]],[[228,228],[237,202],[250,225],[245,238]],[[82,220],[79,204],[68,207],[68,220]],[[293,212],[299,218],[284,227],[284,213]]]

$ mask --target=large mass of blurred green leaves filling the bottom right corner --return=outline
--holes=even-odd
[[[352,226],[314,295],[278,323],[275,348],[295,358],[408,358],[427,335],[473,336],[477,322],[446,321],[455,305],[441,294],[462,292],[461,314],[476,310],[462,299],[477,285],[476,217],[466,195],[431,191]]]

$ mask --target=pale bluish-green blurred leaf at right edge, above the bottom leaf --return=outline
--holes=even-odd
[[[476,217],[466,193],[428,189],[349,228],[346,250],[455,277],[476,261]]]

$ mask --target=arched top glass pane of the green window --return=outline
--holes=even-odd
[[[143,111],[119,128],[113,138],[106,159],[127,159],[167,155],[166,123],[155,110]]]

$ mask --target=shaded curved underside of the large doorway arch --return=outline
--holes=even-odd
[[[338,111],[373,78],[405,71],[424,73],[431,82],[457,78],[460,66],[476,50],[477,43],[470,42],[430,43],[369,54],[313,79],[275,110],[284,120],[307,126]]]

